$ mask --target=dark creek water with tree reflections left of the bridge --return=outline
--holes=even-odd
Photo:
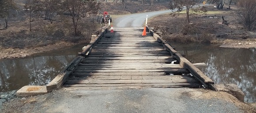
[[[25,85],[47,85],[77,56],[81,46],[40,53],[28,58],[1,60],[0,92],[16,90]]]

